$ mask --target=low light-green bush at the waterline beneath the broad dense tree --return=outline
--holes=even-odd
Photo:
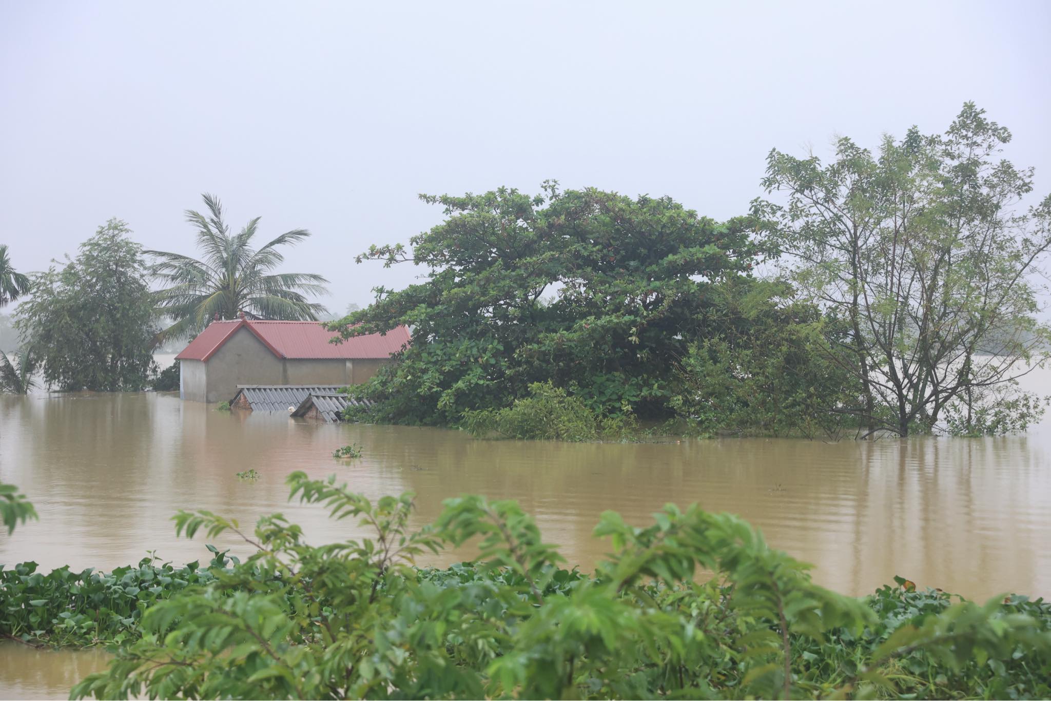
[[[550,382],[534,383],[530,396],[503,409],[463,412],[463,426],[474,436],[548,440],[596,440],[620,437],[636,427],[630,413],[602,416]]]

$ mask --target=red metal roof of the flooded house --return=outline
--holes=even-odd
[[[385,358],[409,343],[409,329],[404,326],[386,334],[370,333],[332,344],[329,342],[338,334],[317,322],[238,319],[212,322],[176,359],[207,360],[242,326],[254,333],[274,355],[293,359]]]

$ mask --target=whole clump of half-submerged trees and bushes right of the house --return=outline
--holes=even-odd
[[[700,435],[1024,430],[1047,405],[1017,380],[1051,348],[1035,315],[1051,198],[1023,208],[1033,172],[1002,160],[1010,138],[967,103],[944,133],[877,152],[775,149],[769,200],[722,223],[554,182],[423,195],[445,221],[357,262],[424,266],[424,282],[330,325],[412,329],[347,416],[536,436],[610,417]],[[588,412],[520,430],[537,384]]]

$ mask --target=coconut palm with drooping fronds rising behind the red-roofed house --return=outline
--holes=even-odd
[[[261,248],[252,248],[260,218],[248,222],[238,234],[223,220],[223,205],[212,194],[204,195],[208,215],[186,210],[186,221],[197,229],[201,260],[181,253],[146,251],[157,261],[152,274],[165,286],[158,292],[159,311],[174,323],[158,334],[157,342],[199,332],[210,319],[249,318],[316,321],[325,312],[321,304],[307,301],[326,294],[321,275],[274,272],[285,260],[280,246],[295,245],[310,235],[306,229],[286,231]]]

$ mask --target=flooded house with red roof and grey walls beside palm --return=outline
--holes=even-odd
[[[358,385],[408,345],[409,329],[331,343],[337,336],[318,322],[212,322],[176,356],[180,396],[228,401],[240,385]]]

